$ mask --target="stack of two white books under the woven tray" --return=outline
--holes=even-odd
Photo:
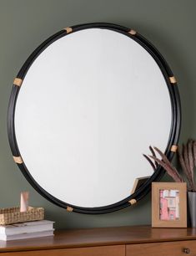
[[[53,222],[48,220],[0,225],[0,240],[48,237],[53,236],[53,231]]]

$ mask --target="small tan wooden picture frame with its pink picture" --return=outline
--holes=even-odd
[[[186,182],[152,182],[152,227],[187,228]]]

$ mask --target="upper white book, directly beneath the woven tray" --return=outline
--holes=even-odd
[[[41,220],[27,223],[15,223],[12,225],[0,225],[0,235],[15,235],[22,233],[37,233],[53,230],[52,221]]]

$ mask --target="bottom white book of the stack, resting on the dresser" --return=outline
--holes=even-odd
[[[11,241],[11,240],[21,240],[27,238],[43,238],[53,236],[53,230],[43,231],[38,233],[19,233],[15,235],[7,236],[6,234],[0,234],[0,240]]]

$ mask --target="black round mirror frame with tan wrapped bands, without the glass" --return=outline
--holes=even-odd
[[[148,51],[149,54],[153,57],[153,59],[158,64],[158,67],[161,69],[163,77],[168,85],[168,93],[170,95],[171,100],[171,108],[172,108],[172,124],[170,135],[168,139],[168,145],[165,150],[165,154],[168,156],[168,159],[171,160],[173,155],[177,149],[178,145],[178,137],[180,132],[181,126],[181,105],[180,105],[180,97],[178,94],[178,86],[176,79],[173,76],[171,69],[168,67],[167,62],[163,59],[163,56],[158,52],[158,50],[148,42],[147,39],[143,38],[142,35],[135,32],[133,29],[125,28],[116,24],[111,23],[88,23],[82,25],[76,25],[69,28],[64,28],[63,30],[59,31],[58,33],[53,34],[50,38],[45,40],[43,44],[38,46],[37,49],[33,51],[27,61],[23,64],[23,67],[18,72],[17,78],[14,79],[13,82],[13,90],[10,96],[9,105],[8,105],[8,141],[11,147],[11,151],[13,153],[14,161],[18,164],[18,167],[23,172],[23,176],[26,177],[28,182],[34,187],[34,189],[39,192],[43,197],[48,199],[48,201],[53,202],[54,204],[58,205],[59,207],[66,208],[69,212],[81,212],[81,213],[107,213],[107,212],[114,212],[124,207],[128,207],[140,199],[142,199],[150,190],[151,190],[151,182],[155,182],[160,180],[163,177],[164,171],[162,167],[158,167],[157,172],[154,172],[152,177],[148,179],[147,182],[143,184],[142,187],[134,192],[129,197],[126,197],[120,202],[116,202],[112,205],[108,205],[105,207],[78,207],[72,204],[68,204],[66,202],[58,200],[58,198],[53,197],[53,195],[46,192],[42,187],[38,185],[38,183],[33,179],[30,172],[28,171],[27,166],[23,162],[23,158],[20,155],[20,151],[18,149],[18,143],[15,136],[15,125],[14,125],[14,115],[15,115],[15,106],[18,99],[18,93],[20,90],[20,86],[23,83],[23,79],[28,72],[31,64],[33,61],[38,58],[38,55],[43,52],[50,44],[53,44],[54,41],[58,40],[58,38],[62,38],[69,33],[75,33],[82,29],[88,28],[103,28],[103,29],[110,29],[117,33],[122,33],[129,38],[135,40],[138,44],[140,44],[144,49]]]

